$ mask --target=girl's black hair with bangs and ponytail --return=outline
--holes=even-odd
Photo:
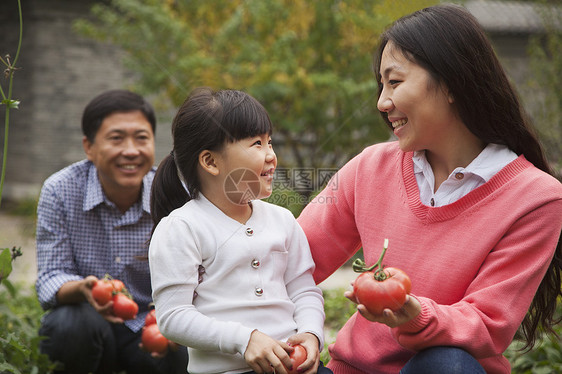
[[[202,151],[219,151],[226,142],[271,134],[272,129],[265,108],[245,92],[193,90],[172,122],[173,150],[154,176],[150,197],[154,225],[199,194],[197,165]]]

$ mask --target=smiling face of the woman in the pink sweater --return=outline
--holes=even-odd
[[[400,149],[438,151],[447,142],[451,125],[458,122],[447,88],[392,42],[383,50],[380,74],[377,107],[388,114]]]

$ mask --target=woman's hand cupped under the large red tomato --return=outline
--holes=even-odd
[[[345,291],[344,296],[348,298],[350,301],[357,304],[357,299],[355,298],[355,294],[353,292],[353,283],[351,284],[352,288],[350,291]],[[390,328],[398,327],[403,325],[418,316],[421,312],[421,304],[415,297],[411,295],[406,295],[406,302],[400,308],[400,310],[393,312],[390,309],[385,309],[381,315],[376,315],[369,313],[365,305],[358,304],[357,311],[361,314],[365,319],[371,322],[378,322],[387,325]]]

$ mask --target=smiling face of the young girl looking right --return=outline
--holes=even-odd
[[[246,204],[271,195],[277,156],[269,134],[227,142],[218,162],[224,191],[230,201]]]

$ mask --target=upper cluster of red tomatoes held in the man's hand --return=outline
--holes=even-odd
[[[113,315],[123,320],[135,319],[139,306],[131,297],[131,294],[122,281],[112,279],[106,275],[103,279],[96,281],[92,287],[92,296],[99,305],[105,305],[113,301]]]

